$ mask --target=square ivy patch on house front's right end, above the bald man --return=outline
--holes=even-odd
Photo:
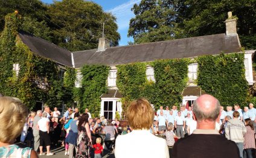
[[[205,55],[198,57],[197,62],[197,83],[206,93],[225,107],[246,103],[249,93],[244,54]]]

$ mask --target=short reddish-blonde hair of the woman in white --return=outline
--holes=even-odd
[[[154,116],[154,110],[145,98],[132,101],[127,108],[129,125],[135,130],[149,130],[153,124]]]

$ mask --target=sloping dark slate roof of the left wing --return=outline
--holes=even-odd
[[[72,67],[71,52],[67,49],[61,48],[33,34],[26,33],[25,31],[19,31],[19,37],[21,37],[22,42],[27,45],[34,54],[50,58],[61,65]]]

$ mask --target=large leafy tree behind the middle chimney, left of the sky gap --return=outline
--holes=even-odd
[[[116,18],[104,13],[100,5],[83,0],[54,1],[48,14],[53,28],[53,42],[69,51],[94,49],[98,39],[104,35],[111,46],[117,46],[120,34],[117,32]]]

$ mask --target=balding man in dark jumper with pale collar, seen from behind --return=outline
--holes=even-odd
[[[193,103],[193,116],[197,128],[190,136],[179,139],[173,147],[172,157],[239,157],[235,142],[227,140],[215,130],[220,118],[220,103],[211,95],[201,95]],[[184,151],[184,149],[186,149]]]

